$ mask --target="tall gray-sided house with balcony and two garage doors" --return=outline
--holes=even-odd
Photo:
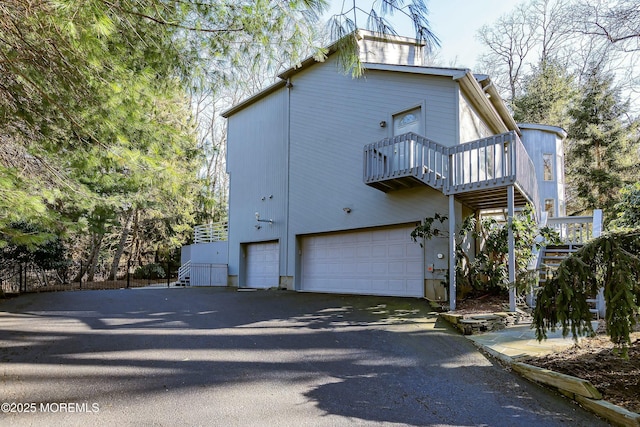
[[[424,66],[416,40],[360,32],[359,44],[362,78],[336,55],[308,59],[223,114],[228,285],[455,307],[442,281],[463,217],[526,203],[564,215],[564,131],[518,126],[488,76]],[[436,213],[451,236],[413,242]]]

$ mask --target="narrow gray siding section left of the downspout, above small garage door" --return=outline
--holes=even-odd
[[[280,241],[286,244],[287,102],[282,88],[239,111],[228,122],[229,275],[242,284],[242,243]],[[256,221],[256,213],[261,220]],[[257,226],[260,229],[257,229]],[[282,262],[282,257],[280,257]],[[284,269],[284,263],[280,265]]]

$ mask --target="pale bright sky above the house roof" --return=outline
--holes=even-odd
[[[342,2],[330,0],[326,16],[339,13]],[[478,53],[483,49],[476,39],[477,30],[484,24],[493,24],[518,3],[518,0],[427,0],[431,30],[440,39],[438,58],[442,65],[473,68]],[[358,4],[363,8],[371,7],[370,0],[359,0]],[[393,18],[391,22],[398,34],[414,36],[410,22]]]

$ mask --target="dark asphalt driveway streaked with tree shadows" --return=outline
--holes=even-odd
[[[223,288],[0,301],[1,425],[604,425],[420,300]]]

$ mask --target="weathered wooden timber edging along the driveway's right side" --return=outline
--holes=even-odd
[[[457,329],[460,329],[457,325],[459,321],[458,316],[452,316],[446,313],[440,313],[440,316],[444,320],[452,323]],[[464,334],[464,331],[461,330],[461,332]],[[558,390],[564,396],[575,400],[583,408],[595,413],[610,423],[624,427],[640,427],[640,414],[602,400],[602,395],[591,382],[582,378],[518,362],[512,357],[502,354],[491,347],[473,340],[472,342],[482,351],[510,366],[514,372],[527,380]]]

